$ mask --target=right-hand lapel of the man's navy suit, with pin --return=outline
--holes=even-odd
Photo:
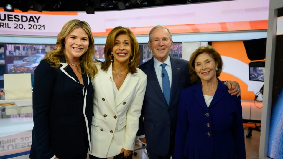
[[[170,60],[171,60],[171,69],[172,69],[171,70],[172,79],[171,79],[171,95],[170,95],[169,105],[171,105],[174,95],[176,93],[181,75],[181,69],[182,69],[179,67],[179,62],[175,59],[175,57],[170,56]]]

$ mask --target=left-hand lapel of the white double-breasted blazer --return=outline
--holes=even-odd
[[[107,72],[99,70],[101,88],[111,109],[117,114],[114,93],[113,93],[113,74],[112,74],[112,64],[109,66]],[[94,79],[95,80],[95,79]]]

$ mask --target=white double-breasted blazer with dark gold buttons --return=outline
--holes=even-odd
[[[92,80],[94,97],[91,125],[91,152],[106,158],[118,155],[122,148],[134,150],[139,128],[142,103],[147,85],[146,74],[128,73],[114,99],[112,64],[107,72],[97,65],[98,73]]]

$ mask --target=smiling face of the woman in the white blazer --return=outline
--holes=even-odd
[[[131,53],[131,40],[129,35],[118,35],[115,38],[114,47],[111,52],[114,56],[114,62],[129,63]]]

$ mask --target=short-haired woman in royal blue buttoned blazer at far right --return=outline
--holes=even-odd
[[[190,57],[190,79],[178,107],[175,159],[245,159],[240,97],[231,96],[217,78],[223,62],[211,46]]]

